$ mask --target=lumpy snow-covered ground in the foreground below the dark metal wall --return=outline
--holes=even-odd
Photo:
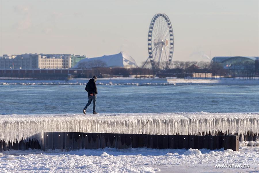
[[[251,146],[240,146],[238,152],[223,148],[12,150],[0,153],[0,172],[258,172],[258,153],[259,147]],[[228,168],[215,168],[216,164]],[[247,165],[250,168],[244,168]]]

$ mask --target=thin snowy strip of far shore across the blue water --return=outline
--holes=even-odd
[[[28,80],[26,78],[0,77],[0,85],[86,85],[89,79],[77,78],[62,80]],[[226,84],[226,85],[259,85],[256,79],[222,78],[220,79],[184,79],[184,78],[98,78],[98,85],[184,85],[184,84]]]

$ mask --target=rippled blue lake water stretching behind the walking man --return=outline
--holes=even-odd
[[[98,85],[97,88],[99,113],[259,112],[258,85]],[[0,85],[0,98],[0,114],[82,113],[88,100],[84,84]],[[87,110],[91,112],[92,105]]]

